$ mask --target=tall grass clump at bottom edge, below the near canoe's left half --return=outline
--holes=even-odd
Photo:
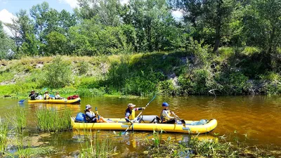
[[[86,136],[86,144],[80,144],[82,147],[80,157],[113,157],[114,147],[112,145],[112,140],[110,140],[108,137],[100,138],[96,132],[94,135],[91,133],[92,132]]]

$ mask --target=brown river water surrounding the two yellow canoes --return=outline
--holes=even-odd
[[[35,110],[42,107],[53,107],[60,111],[69,107],[72,116],[83,112],[85,105],[98,107],[98,112],[103,117],[124,117],[124,110],[128,103],[136,104],[137,107],[145,107],[151,98],[81,98],[81,105],[56,105],[56,104],[27,104],[24,107],[27,112],[27,133],[29,136],[38,136]],[[162,110],[162,102],[167,102],[170,109],[185,120],[217,119],[218,126],[207,136],[225,136],[228,140],[234,137],[245,141],[249,145],[259,147],[277,146],[281,147],[281,98],[274,96],[231,96],[218,97],[187,97],[187,98],[164,98],[157,97],[148,105],[143,114],[157,114]],[[18,100],[0,99],[0,116],[4,118],[7,112],[15,106],[19,106]],[[128,136],[117,136],[113,131],[100,131],[101,136],[115,138],[117,150],[121,153],[119,157],[128,155],[137,150],[144,150],[145,138],[152,138],[152,132],[133,132]],[[171,136],[173,140],[181,140],[187,137],[181,133],[166,133],[164,137]],[[206,137],[206,136],[204,136]],[[79,149],[79,135],[76,131],[68,131],[51,134],[41,138],[63,155],[68,155]],[[122,156],[123,155],[123,156]],[[61,155],[53,155],[61,157]]]

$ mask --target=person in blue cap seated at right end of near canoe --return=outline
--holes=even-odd
[[[176,117],[171,117],[171,114],[175,115],[174,112],[169,110],[169,104],[164,102],[162,103],[163,110],[160,114],[160,119],[163,124],[175,124]]]

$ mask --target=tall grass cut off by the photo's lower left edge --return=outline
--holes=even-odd
[[[8,144],[8,123],[2,122],[0,117],[0,157],[4,154],[4,151]]]

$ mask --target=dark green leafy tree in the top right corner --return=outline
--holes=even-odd
[[[281,46],[281,1],[251,1],[244,16],[244,32],[249,46],[259,46],[275,53]]]

